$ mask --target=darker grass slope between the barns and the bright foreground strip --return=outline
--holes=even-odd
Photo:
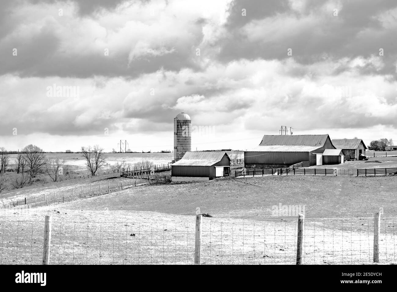
[[[70,210],[149,211],[215,217],[272,218],[272,206],[305,205],[311,218],[397,215],[396,176],[267,176],[204,183],[145,185],[62,206]]]

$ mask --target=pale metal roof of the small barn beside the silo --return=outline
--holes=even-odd
[[[211,166],[220,162],[224,155],[230,160],[226,151],[188,151],[181,160],[171,166]]]

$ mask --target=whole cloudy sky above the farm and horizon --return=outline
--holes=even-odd
[[[179,112],[198,150],[251,148],[281,126],[397,141],[395,0],[1,5],[8,150],[172,150]]]

